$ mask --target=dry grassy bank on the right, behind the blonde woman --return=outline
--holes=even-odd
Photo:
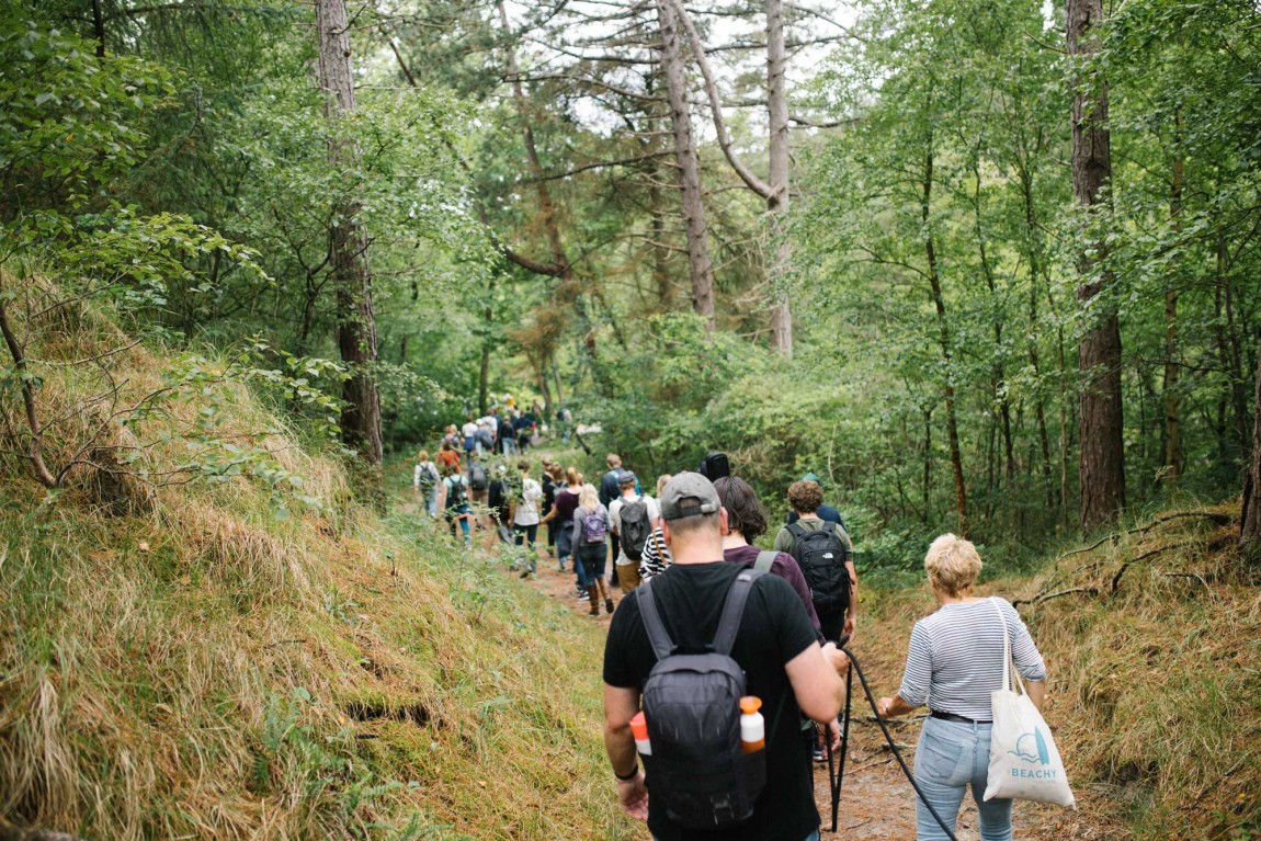
[[[1221,525],[1237,508],[1211,513],[981,588],[1096,590],[1019,608],[1050,671],[1047,719],[1079,804],[1021,804],[1043,837],[1261,837],[1261,595],[1233,565],[1237,523]],[[897,691],[910,625],[933,608],[927,588],[868,594],[855,653],[874,688]]]

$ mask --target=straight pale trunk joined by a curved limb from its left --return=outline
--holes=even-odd
[[[776,252],[770,264],[770,343],[786,359],[792,359],[792,309],[789,305],[789,274],[792,243],[788,240],[788,193],[792,159],[788,153],[788,90],[784,82],[787,64],[784,48],[783,0],[767,0],[767,111],[770,140],[770,197],[767,217]]]

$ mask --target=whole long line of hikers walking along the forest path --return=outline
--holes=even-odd
[[[787,489],[791,513],[773,548],[762,550],[754,541],[768,531],[767,512],[725,455],[658,477],[656,496],[618,455],[605,468],[593,484],[543,459],[536,480],[527,459],[488,472],[469,450],[463,469],[436,465],[443,502],[430,512],[445,511],[465,540],[484,528],[488,540],[522,546],[522,577],[536,574],[546,525],[545,551],[559,570],[572,565],[575,596],[593,617],[601,606],[614,614],[604,743],[623,809],[646,820],[653,838],[817,840],[811,764],[840,743],[842,649],[859,605],[840,513],[806,474]],[[953,826],[971,788],[982,841],[1008,841],[1011,801],[982,798],[990,693],[1006,675],[1005,643],[1039,707],[1045,666],[1006,600],[973,595],[981,559],[971,542],[942,535],[924,569],[939,608],[915,623],[898,693],[876,707],[881,716],[931,709],[915,751],[917,837],[948,838],[929,804]]]

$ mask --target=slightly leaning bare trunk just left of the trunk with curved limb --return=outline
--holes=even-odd
[[[661,71],[666,77],[670,120],[675,131],[675,161],[683,193],[683,219],[687,224],[687,266],[692,279],[692,309],[705,319],[705,330],[714,332],[714,266],[709,253],[705,199],[701,192],[701,165],[692,141],[691,110],[687,105],[687,74],[680,44],[678,16],[671,0],[657,0],[661,24]]]

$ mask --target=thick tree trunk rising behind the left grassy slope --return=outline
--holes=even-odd
[[[351,33],[344,0],[317,0],[315,26],[319,37],[319,86],[324,113],[337,124],[354,111],[354,78],[351,72]],[[349,168],[357,163],[353,142],[329,141],[329,163]],[[342,438],[369,465],[380,465],[381,398],[372,366],[377,359],[376,319],[372,311],[372,272],[368,269],[368,240],[358,223],[359,207],[342,198],[329,229],[329,262],[337,284],[337,343],[342,361],[349,364],[349,380],[342,387],[347,406],[342,411]]]

